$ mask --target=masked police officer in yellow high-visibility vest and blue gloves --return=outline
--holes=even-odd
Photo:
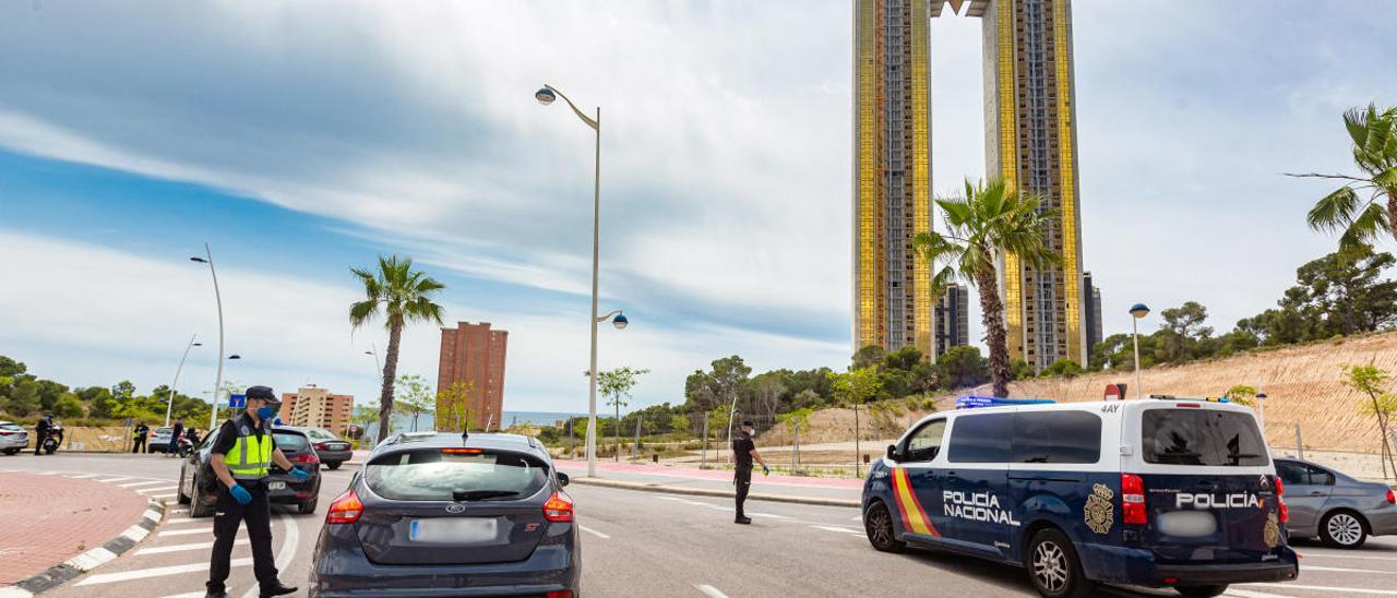
[[[214,506],[214,556],[208,564],[207,598],[225,598],[228,588],[228,560],[233,553],[237,524],[247,521],[247,539],[253,548],[253,573],[260,595],[279,597],[296,591],[277,578],[277,564],[271,555],[271,506],[267,502],[265,478],[275,462],[295,478],[310,479],[310,474],[296,469],[281,454],[271,435],[271,418],[281,400],[265,386],[247,388],[247,409],[218,429],[210,467],[222,490]]]

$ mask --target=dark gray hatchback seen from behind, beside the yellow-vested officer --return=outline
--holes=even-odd
[[[310,595],[574,598],[581,556],[566,485],[527,436],[390,437],[330,506]]]

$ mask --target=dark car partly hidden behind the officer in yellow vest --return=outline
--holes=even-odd
[[[198,449],[180,464],[179,502],[190,506],[190,517],[207,517],[214,513],[221,483],[208,460],[214,443],[218,442],[219,430],[210,432]],[[316,455],[316,449],[310,446],[310,439],[306,437],[305,432],[274,428],[271,433],[277,440],[277,449],[281,449],[292,467],[310,472],[310,479],[296,481],[285,469],[272,464],[271,475],[267,476],[267,497],[272,504],[295,504],[302,514],[314,513],[320,497],[320,457]]]

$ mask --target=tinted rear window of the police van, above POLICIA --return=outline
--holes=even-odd
[[[1146,462],[1164,465],[1266,465],[1256,421],[1221,409],[1146,409],[1140,433]]]

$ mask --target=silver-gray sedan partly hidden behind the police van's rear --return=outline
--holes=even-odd
[[[1386,483],[1362,482],[1309,461],[1275,460],[1285,482],[1292,537],[1336,548],[1358,548],[1369,535],[1397,534],[1397,497]]]

